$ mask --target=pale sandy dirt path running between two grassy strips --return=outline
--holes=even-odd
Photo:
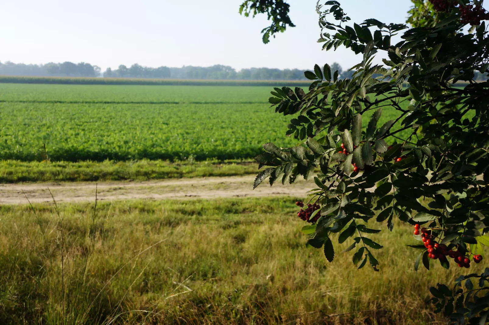
[[[51,190],[57,202],[86,202],[95,200],[164,200],[213,199],[233,197],[294,196],[302,198],[312,188],[313,182],[299,180],[294,184],[276,183],[272,187],[265,181],[253,190],[255,176],[206,177],[170,179],[147,182],[104,183],[22,183],[0,184],[0,204],[25,204],[52,202]]]

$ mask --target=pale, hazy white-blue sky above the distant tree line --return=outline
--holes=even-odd
[[[288,28],[263,44],[265,15],[239,15],[243,0],[15,0],[0,9],[0,61],[181,67],[229,65],[311,69],[359,61],[349,49],[321,51],[316,0],[287,0]],[[325,2],[325,0],[321,0]],[[404,23],[410,0],[340,0],[355,22]],[[379,56],[377,61],[380,61]]]

